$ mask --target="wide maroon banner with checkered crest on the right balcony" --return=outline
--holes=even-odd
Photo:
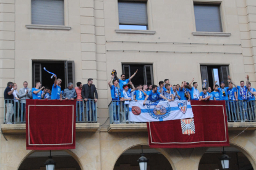
[[[194,118],[150,122],[151,148],[229,146],[225,101],[191,101]]]

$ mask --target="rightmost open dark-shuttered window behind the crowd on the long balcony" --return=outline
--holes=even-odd
[[[213,87],[213,83],[220,86],[220,82],[224,81],[225,87],[228,87],[228,65],[201,65],[201,77],[207,80],[206,87]]]

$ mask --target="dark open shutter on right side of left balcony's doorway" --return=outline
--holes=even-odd
[[[75,63],[74,61],[65,62],[66,87],[67,84],[73,83],[75,86]]]

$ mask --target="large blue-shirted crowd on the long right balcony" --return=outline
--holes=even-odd
[[[247,102],[245,102],[255,101],[254,95],[256,95],[255,89],[251,87],[248,75],[246,76],[246,85],[244,81],[241,81],[240,86],[237,86],[233,83],[231,77],[228,76],[228,87],[225,87],[223,81],[220,83],[220,86],[218,86],[218,84],[216,84],[217,81],[215,81],[213,85],[213,91],[211,87],[206,88],[207,81],[204,80],[202,92],[199,92],[197,88],[198,83],[194,81],[194,78],[192,79],[192,81],[190,81],[190,83],[182,81],[181,85],[174,84],[172,86],[169,82],[169,79],[164,79],[164,81],[160,81],[158,83],[159,86],[156,86],[154,84],[139,84],[138,86],[134,86],[131,80],[132,78],[134,78],[137,71],[135,71],[134,75],[130,76],[130,78],[128,79],[126,79],[126,76],[124,74],[122,74],[121,78],[119,79],[117,77],[116,70],[113,70],[111,74],[111,79],[109,79],[108,85],[110,87],[112,101],[114,101],[114,123],[120,123],[118,110],[120,102],[123,102],[122,106],[126,112],[126,123],[129,123],[129,109],[127,109],[129,107],[129,101],[137,102],[138,100],[142,100],[144,105],[147,100],[150,100],[152,102],[161,100],[168,100],[169,102],[174,100],[241,100],[241,102],[237,103],[226,102],[226,108],[229,112],[229,116],[231,116],[234,121],[247,121],[247,119],[255,119],[255,103],[251,102],[250,105],[247,105]],[[237,108],[239,108],[239,118],[237,118],[238,116],[236,115]],[[253,118],[248,118],[248,111],[246,108],[253,109]]]

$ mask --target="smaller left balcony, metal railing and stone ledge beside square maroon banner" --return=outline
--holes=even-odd
[[[12,116],[12,122],[6,122],[6,103],[12,103],[14,108],[14,115]],[[4,124],[1,125],[3,134],[25,134],[25,105],[20,101],[5,100],[4,101]],[[97,123],[97,103],[94,100],[77,100],[76,105],[76,132],[96,132],[100,127],[100,123]],[[87,114],[85,114],[87,113]]]

